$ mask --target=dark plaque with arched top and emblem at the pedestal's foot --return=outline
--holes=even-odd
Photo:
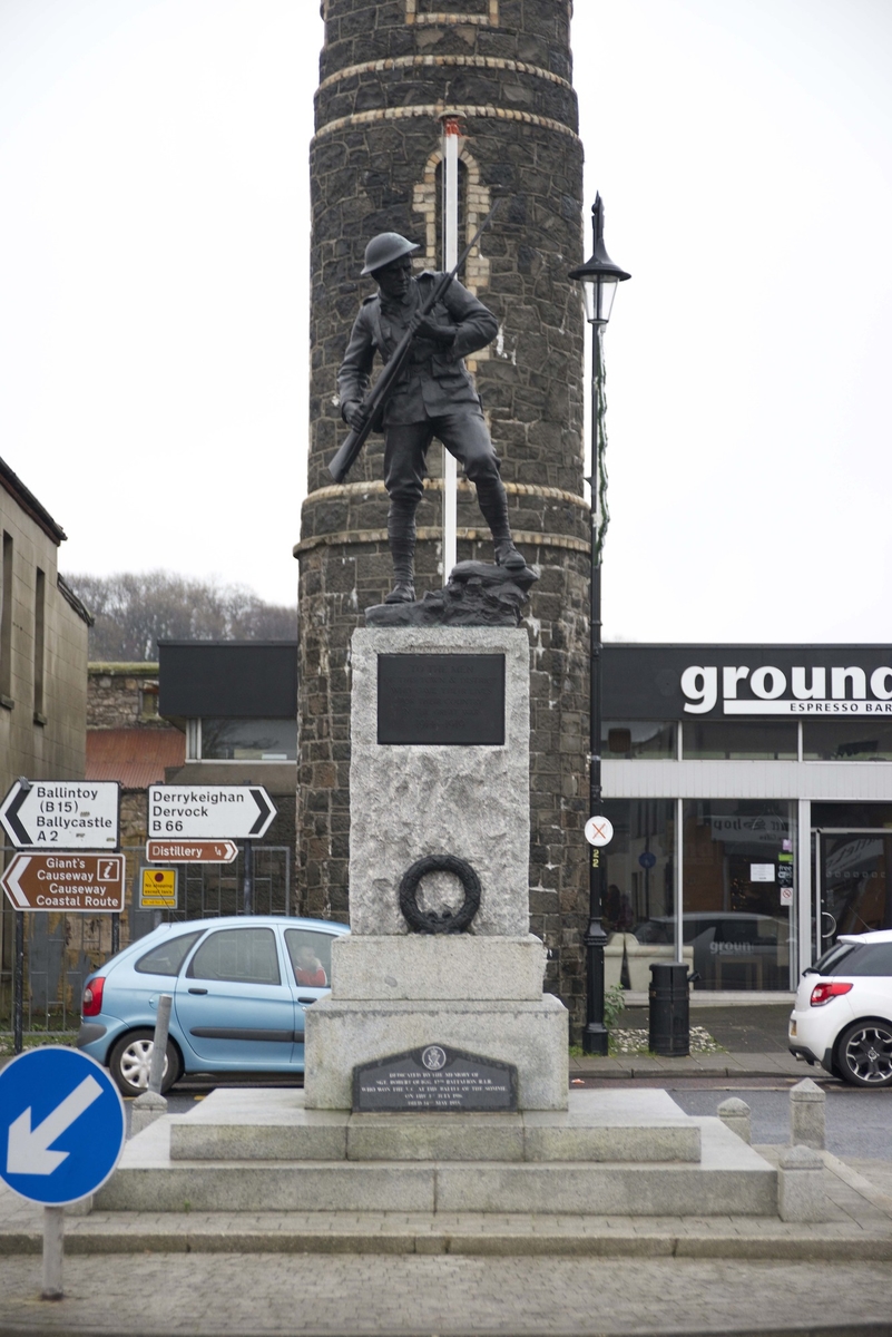
[[[353,1108],[517,1110],[517,1068],[477,1054],[426,1044],[353,1070]]]

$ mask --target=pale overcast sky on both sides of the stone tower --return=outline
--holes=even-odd
[[[0,0],[0,455],[63,571],[294,599],[318,9]],[[892,4],[576,9],[605,635],[892,640]]]

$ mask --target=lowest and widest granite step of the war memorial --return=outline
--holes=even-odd
[[[718,1119],[698,1163],[174,1161],[170,1119],[134,1138],[103,1211],[598,1213],[776,1217],[777,1171]]]

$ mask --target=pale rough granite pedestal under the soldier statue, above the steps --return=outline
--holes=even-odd
[[[365,628],[351,667],[351,936],[307,1011],[306,1106],[566,1110],[568,1013],[529,933],[527,635]]]

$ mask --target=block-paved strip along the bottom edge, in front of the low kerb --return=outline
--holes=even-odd
[[[892,1263],[381,1255],[0,1262],[0,1333],[127,1337],[645,1337],[892,1332]]]

